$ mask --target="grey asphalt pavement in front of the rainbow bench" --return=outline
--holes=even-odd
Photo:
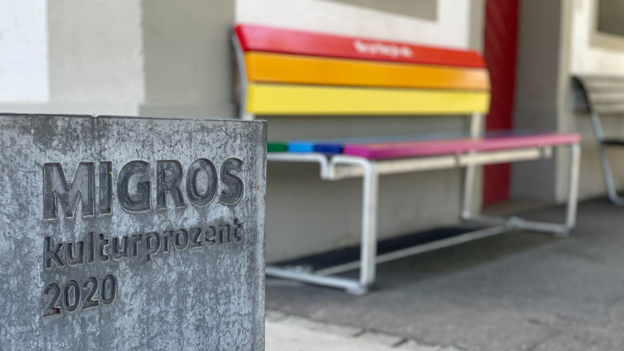
[[[472,350],[623,350],[622,229],[624,208],[592,200],[566,239],[511,232],[388,262],[362,297],[267,279],[266,308]]]

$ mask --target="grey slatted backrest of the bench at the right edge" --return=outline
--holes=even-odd
[[[576,76],[575,81],[590,111],[624,114],[624,76]]]

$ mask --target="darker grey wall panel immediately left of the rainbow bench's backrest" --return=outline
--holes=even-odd
[[[146,116],[233,116],[231,0],[143,1]]]

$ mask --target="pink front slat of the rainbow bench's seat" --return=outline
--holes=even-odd
[[[367,159],[396,159],[401,157],[459,154],[469,151],[497,151],[527,147],[559,146],[575,144],[579,141],[579,134],[552,133],[497,136],[485,139],[347,144],[343,147],[343,154],[362,156]]]

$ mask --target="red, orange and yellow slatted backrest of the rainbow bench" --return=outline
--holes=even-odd
[[[484,114],[489,74],[475,51],[273,27],[234,29],[241,117]]]

